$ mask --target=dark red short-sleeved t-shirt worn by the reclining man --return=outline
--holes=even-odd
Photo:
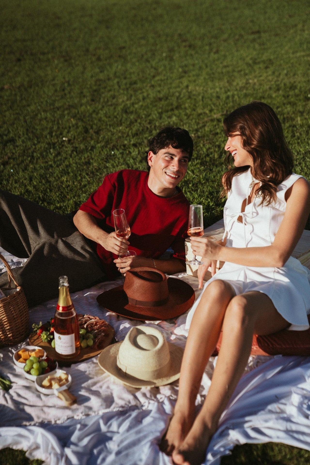
[[[147,185],[146,171],[122,170],[108,174],[102,185],[79,209],[97,219],[107,233],[114,229],[113,210],[123,208],[131,229],[129,249],[148,258],[160,257],[169,247],[173,257],[185,260],[185,238],[189,202],[182,192],[163,198]],[[107,277],[113,279],[118,271],[113,260],[117,255],[97,244]]]

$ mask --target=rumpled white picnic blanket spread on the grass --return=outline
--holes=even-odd
[[[20,260],[7,253],[6,257],[10,265],[14,261],[20,265]],[[198,297],[197,279],[176,279],[186,280]],[[72,294],[76,310],[106,319],[119,341],[141,322],[107,312],[96,297],[121,282],[122,278]],[[56,304],[54,299],[30,309],[30,323],[48,320]],[[184,347],[185,319],[182,315],[145,324],[156,324],[167,340]],[[36,391],[13,364],[13,352],[23,344],[0,350],[0,372],[13,382],[9,392],[0,392],[0,448],[24,449],[29,458],[52,465],[171,464],[159,451],[158,441],[173,412],[178,381],[151,389],[125,387],[104,373],[95,357],[66,368],[73,378],[70,391],[78,400],[69,408],[56,396]],[[211,358],[204,372],[197,409],[208,392],[215,363]],[[245,442],[275,441],[310,450],[309,415],[310,358],[252,357],[211,440],[205,464],[219,464],[222,455]]]

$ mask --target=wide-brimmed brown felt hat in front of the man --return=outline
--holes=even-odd
[[[124,286],[97,297],[99,305],[126,318],[165,320],[186,312],[194,303],[193,288],[178,278],[166,278],[155,268],[139,266],[126,272]]]

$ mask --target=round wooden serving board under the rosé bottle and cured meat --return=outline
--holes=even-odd
[[[42,347],[42,349],[46,351],[47,356],[56,360],[59,366],[71,366],[73,363],[79,363],[79,362],[82,362],[83,360],[91,359],[92,357],[99,355],[99,353],[102,352],[105,347],[110,345],[112,343],[112,340],[114,339],[115,331],[110,325],[108,325],[108,330],[109,332],[106,335],[106,340],[104,344],[102,345],[101,349],[95,350],[92,347],[87,347],[86,349],[82,349],[81,347],[79,355],[75,357],[74,359],[68,359],[68,360],[61,359],[59,357],[59,354],[55,351],[55,349],[51,346],[51,344],[49,342],[43,342],[41,339],[41,336],[38,336],[36,332],[33,332],[32,334],[30,334],[28,340],[29,340],[30,345],[38,345],[39,347]]]

